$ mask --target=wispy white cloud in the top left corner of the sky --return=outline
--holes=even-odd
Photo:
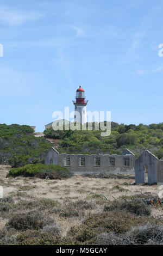
[[[5,5],[0,5],[0,23],[18,26],[24,22],[35,21],[43,16],[39,11],[17,10]]]

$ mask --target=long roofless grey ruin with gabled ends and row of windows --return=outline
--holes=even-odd
[[[121,155],[74,155],[59,153],[53,147],[45,157],[45,164],[66,166],[73,173],[109,172],[114,174],[134,173],[135,155],[128,149]]]

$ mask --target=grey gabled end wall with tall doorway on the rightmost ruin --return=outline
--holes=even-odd
[[[158,182],[159,159],[148,150],[135,160],[135,183],[145,182],[144,166],[148,167],[148,184]]]

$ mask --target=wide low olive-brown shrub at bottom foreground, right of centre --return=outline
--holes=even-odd
[[[68,235],[71,239],[73,237],[79,242],[90,245],[99,233],[115,232],[116,234],[122,234],[146,220],[144,216],[137,217],[124,210],[90,214],[82,224],[71,227]]]

